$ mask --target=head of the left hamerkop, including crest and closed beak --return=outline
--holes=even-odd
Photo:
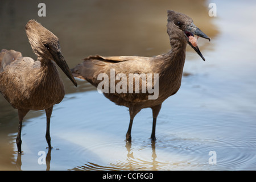
[[[33,52],[38,57],[41,57],[42,60],[55,61],[65,75],[77,86],[77,82],[60,51],[60,43],[57,36],[33,19],[28,21],[25,29]]]

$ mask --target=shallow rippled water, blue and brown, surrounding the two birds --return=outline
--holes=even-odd
[[[83,57],[100,54],[155,56],[168,52],[166,10],[188,14],[212,40],[199,39],[206,61],[187,48],[179,92],[163,102],[151,142],[151,109],[134,119],[132,142],[126,107],[113,104],[86,81],[75,88],[61,73],[66,95],[51,118],[53,150],[45,139],[44,111],[30,111],[22,127],[21,158],[16,154],[18,113],[0,96],[0,169],[2,170],[255,170],[256,80],[254,30],[256,3],[211,1],[44,1],[47,16],[37,15],[39,1],[3,1],[0,48],[31,51],[24,31],[37,19],[60,39],[73,68]],[[62,1],[61,1],[62,2]],[[24,12],[26,14],[22,14]],[[234,10],[240,9],[240,14]],[[22,16],[20,15],[22,14]],[[39,152],[51,160],[39,164]],[[210,164],[209,152],[216,152]]]

